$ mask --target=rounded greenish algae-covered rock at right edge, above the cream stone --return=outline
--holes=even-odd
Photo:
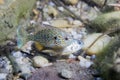
[[[120,11],[103,13],[91,21],[90,26],[98,31],[120,28]]]

